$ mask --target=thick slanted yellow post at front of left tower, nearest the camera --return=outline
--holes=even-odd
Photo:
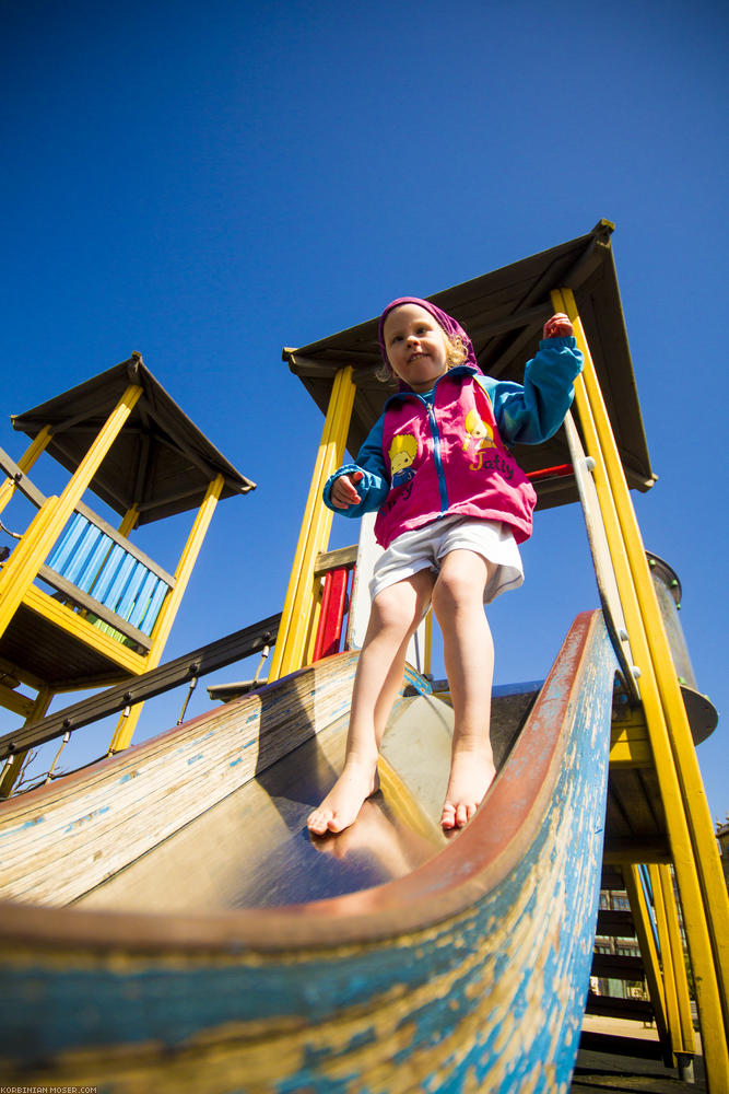
[[[142,388],[130,384],[107,418],[89,452],[77,467],[59,498],[47,498],[25,535],[0,571],[0,635],[17,610],[26,590],[35,580],[48,551],[111,447]]]

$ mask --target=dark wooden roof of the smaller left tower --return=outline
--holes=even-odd
[[[79,466],[129,384],[142,395],[91,482],[91,490],[124,515],[137,505],[138,524],[197,509],[219,474],[221,498],[256,486],[217,451],[146,369],[140,353],[25,414],[13,429],[35,438],[50,426],[46,452],[67,470]]]

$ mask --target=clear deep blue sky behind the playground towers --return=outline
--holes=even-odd
[[[258,482],[219,508],[166,656],[282,605],[322,423],[282,346],[605,217],[659,475],[636,498],[644,538],[681,578],[699,688],[727,710],[720,5],[26,0],[1,10],[0,444],[17,457],[25,441],[11,412],[138,349]],[[332,545],[351,542],[352,526],[337,524]],[[172,567],[187,526],[142,546]],[[491,612],[498,683],[543,677],[573,617],[597,604],[575,507],[538,519],[525,560],[527,584]],[[149,703],[138,740],[166,729],[181,700]],[[190,712],[207,706],[201,685]],[[108,735],[82,731],[67,763],[98,754]],[[699,760],[724,818],[725,723]]]

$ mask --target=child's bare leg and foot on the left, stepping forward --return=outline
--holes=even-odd
[[[307,818],[310,831],[341,831],[377,790],[377,756],[402,683],[408,643],[433,589],[430,570],[389,585],[375,597],[352,694],[344,768],[321,805]]]

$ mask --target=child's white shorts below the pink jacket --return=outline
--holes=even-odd
[[[414,532],[403,532],[383,551],[369,582],[371,597],[374,601],[383,589],[411,578],[419,570],[430,569],[437,573],[446,555],[457,549],[475,551],[496,567],[483,592],[484,604],[490,604],[507,589],[518,589],[522,584],[521,556],[508,524],[447,516]]]

